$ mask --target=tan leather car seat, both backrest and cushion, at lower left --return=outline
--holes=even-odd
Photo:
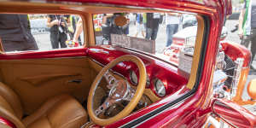
[[[0,82],[0,116],[17,128],[80,128],[87,122],[87,113],[72,96],[55,96],[41,108],[22,119],[19,97]]]

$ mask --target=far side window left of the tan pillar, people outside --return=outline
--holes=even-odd
[[[74,49],[84,44],[79,15],[0,14],[0,17],[0,38],[7,53]]]

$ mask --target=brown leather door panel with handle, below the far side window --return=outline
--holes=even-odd
[[[67,93],[87,99],[93,80],[87,57],[0,61],[1,80],[20,96],[25,113],[49,97]]]

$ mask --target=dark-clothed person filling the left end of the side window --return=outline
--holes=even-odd
[[[37,50],[28,15],[0,14],[0,38],[4,51]]]

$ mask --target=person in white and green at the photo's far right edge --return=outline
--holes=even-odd
[[[256,53],[256,1],[244,0],[244,8],[239,17],[239,37],[241,44],[248,47],[251,42],[252,61]],[[255,68],[251,65],[251,69]]]

